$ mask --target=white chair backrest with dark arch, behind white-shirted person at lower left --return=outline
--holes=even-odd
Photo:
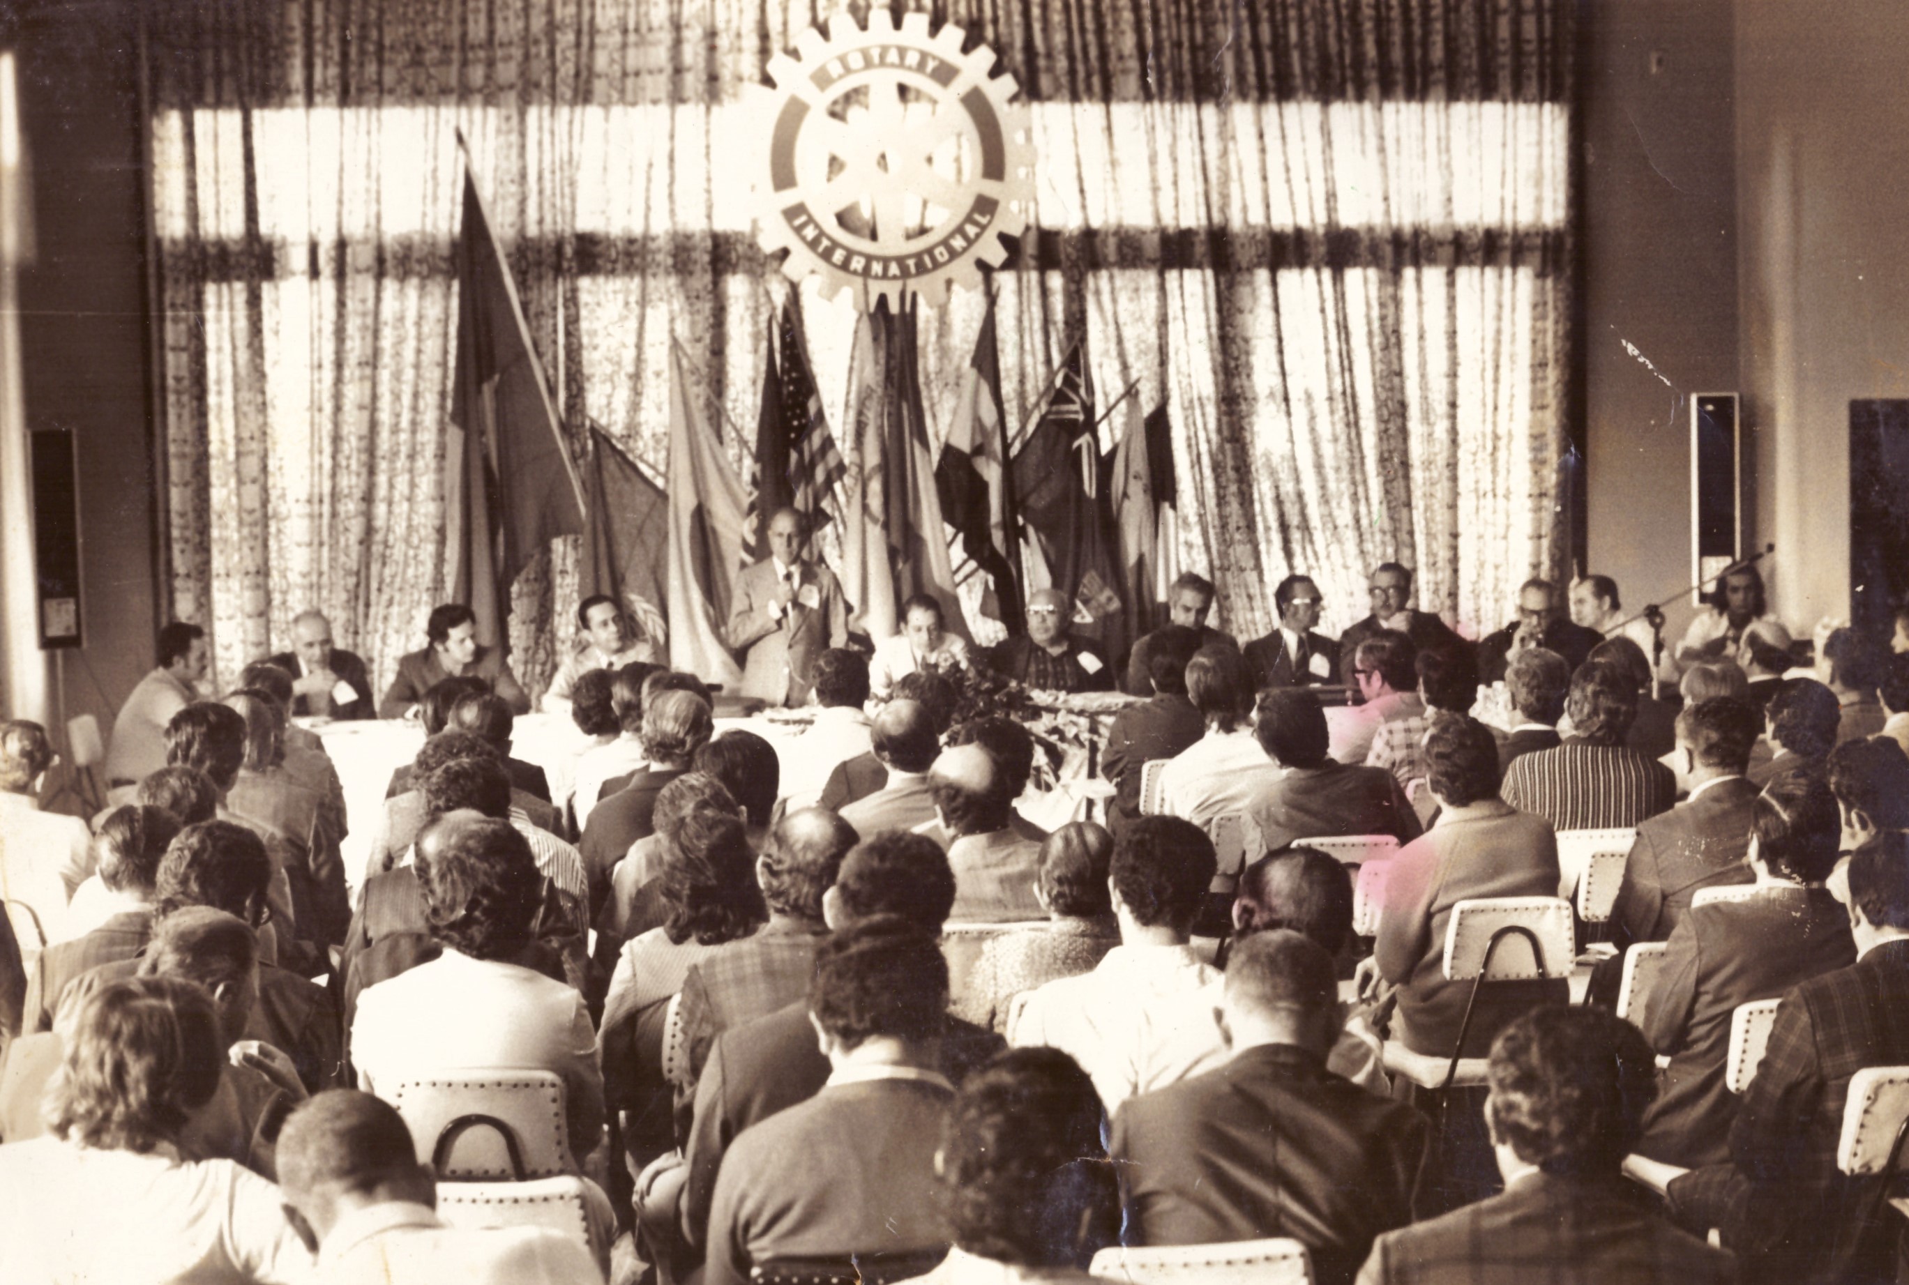
[[[466,1115],[485,1115],[510,1128],[523,1159],[525,1178],[548,1178],[571,1169],[569,1138],[563,1127],[563,1081],[554,1071],[487,1067],[477,1071],[439,1071],[410,1081],[378,1086],[410,1127],[418,1161],[431,1161],[437,1140],[449,1125]],[[451,1180],[496,1180],[512,1176],[510,1151],[494,1128],[470,1128],[443,1157],[437,1176]]]

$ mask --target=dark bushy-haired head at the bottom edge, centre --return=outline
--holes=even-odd
[[[941,1130],[949,1232],[964,1253],[1084,1268],[1119,1235],[1100,1094],[1059,1048],[1010,1048],[962,1081]]]

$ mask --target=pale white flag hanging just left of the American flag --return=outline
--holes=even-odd
[[[708,684],[735,687],[743,670],[724,643],[735,577],[743,569],[743,523],[748,496],[703,418],[689,388],[683,351],[670,351],[668,462],[668,605],[670,668]]]

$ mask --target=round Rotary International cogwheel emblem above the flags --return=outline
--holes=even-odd
[[[766,151],[754,174],[756,241],[787,250],[783,273],[844,286],[863,311],[907,294],[945,304],[951,281],[979,286],[998,267],[1035,197],[1033,120],[995,53],[962,53],[964,32],[930,36],[926,13],[895,27],[850,15],[808,29],[769,59]]]

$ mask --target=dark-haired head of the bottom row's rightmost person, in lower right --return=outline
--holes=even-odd
[[[1485,1077],[1493,1140],[1558,1176],[1615,1180],[1657,1096],[1644,1033],[1588,1004],[1521,1016],[1493,1041]]]

